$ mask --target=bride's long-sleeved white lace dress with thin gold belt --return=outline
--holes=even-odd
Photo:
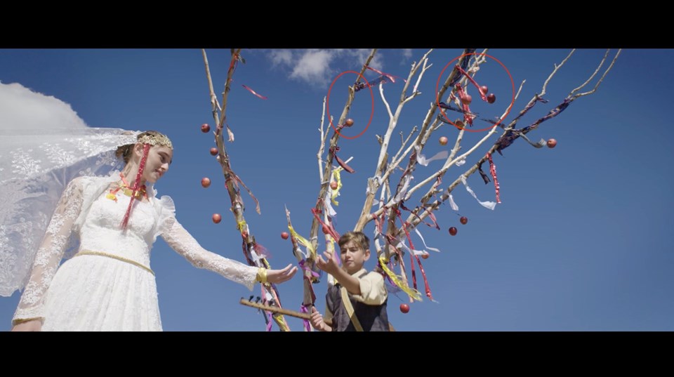
[[[72,180],[37,252],[14,319],[42,319],[43,331],[161,331],[150,250],[161,235],[192,265],[253,289],[257,267],[206,251],[175,217],[170,197],[134,201],[128,229],[120,224],[131,199],[108,199],[110,178]],[[59,267],[79,236],[79,254]]]

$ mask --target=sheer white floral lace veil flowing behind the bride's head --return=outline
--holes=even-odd
[[[119,173],[124,163],[114,151],[135,143],[138,133],[89,127],[0,129],[0,296],[25,286],[70,180]]]

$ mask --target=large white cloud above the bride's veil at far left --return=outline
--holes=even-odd
[[[86,128],[86,124],[58,98],[0,82],[0,130],[17,128]]]

